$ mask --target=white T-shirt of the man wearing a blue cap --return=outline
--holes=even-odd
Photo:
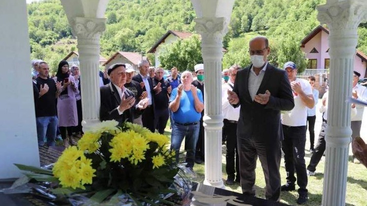
[[[307,80],[296,78],[295,82],[299,82],[302,91],[306,95],[312,95],[312,88]],[[282,124],[287,126],[305,126],[307,125],[307,107],[302,102],[299,95],[293,95],[295,100],[295,107],[283,114]]]

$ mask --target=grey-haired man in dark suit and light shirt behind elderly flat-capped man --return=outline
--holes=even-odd
[[[148,75],[149,61],[141,60],[137,63],[139,74],[133,76],[133,80],[138,82],[143,89],[147,92],[148,106],[144,109],[141,115],[141,121],[143,126],[148,128],[151,132],[155,132],[155,105],[154,105],[154,88],[152,78]]]

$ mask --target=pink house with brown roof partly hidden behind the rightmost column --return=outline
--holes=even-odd
[[[308,59],[307,69],[330,68],[328,36],[329,30],[319,25],[302,39],[301,48]],[[367,77],[367,56],[358,50],[354,56],[354,70],[361,73],[361,77]]]

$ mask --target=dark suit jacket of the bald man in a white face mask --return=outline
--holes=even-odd
[[[270,91],[270,98],[266,105],[259,104],[251,99],[248,91],[248,78],[252,65],[238,70],[234,81],[233,91],[239,97],[241,105],[237,137],[241,139],[252,138],[254,140],[272,141],[283,140],[280,111],[292,110],[295,106],[287,73],[269,63],[264,74],[264,79],[256,92]]]

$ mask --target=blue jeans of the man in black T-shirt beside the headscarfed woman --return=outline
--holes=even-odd
[[[36,119],[38,146],[43,146],[46,138],[48,146],[55,146],[56,130],[59,120],[57,116],[39,117]]]

